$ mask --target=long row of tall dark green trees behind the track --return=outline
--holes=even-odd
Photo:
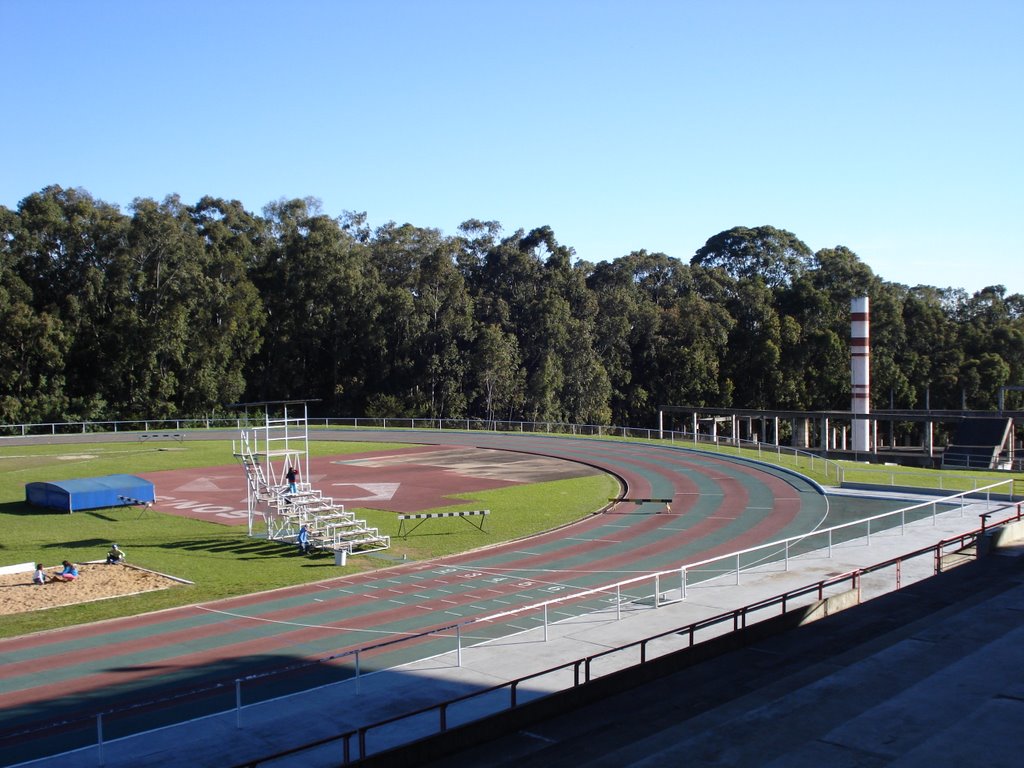
[[[688,263],[592,263],[547,226],[371,228],[314,199],[123,212],[49,186],[0,207],[0,423],[288,398],[333,416],[635,426],[660,404],[847,410],[857,296],[873,408],[988,409],[1024,383],[1021,294],[889,283],[772,226],[719,232]]]

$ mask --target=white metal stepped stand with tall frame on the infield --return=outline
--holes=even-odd
[[[309,545],[335,552],[343,563],[347,555],[376,552],[391,546],[391,538],[370,527],[366,520],[345,510],[343,504],[312,486],[309,481],[308,400],[267,400],[237,403],[245,410],[239,439],[231,453],[246,473],[249,536],[271,541],[296,542],[305,525]],[[253,425],[250,409],[255,409]],[[293,493],[290,467],[298,470]]]

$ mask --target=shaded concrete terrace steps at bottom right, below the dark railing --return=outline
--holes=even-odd
[[[1022,610],[990,556],[421,765],[1018,766]]]

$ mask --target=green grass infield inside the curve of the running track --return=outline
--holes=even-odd
[[[402,443],[312,441],[311,456],[339,456],[401,447]],[[392,539],[391,549],[350,557],[345,567],[333,553],[299,555],[295,548],[250,539],[246,526],[225,526],[137,508],[97,509],[74,514],[41,510],[25,502],[25,484],[38,480],[150,472],[236,464],[224,441],[161,443],[75,443],[0,446],[0,565],[55,565],[101,559],[118,542],[133,564],[185,579],[191,586],[48,610],[0,616],[0,637],[132,615],[221,597],[287,587],[386,567],[403,557],[420,560],[516,539],[579,519],[617,493],[607,475],[474,493],[474,504],[490,510],[484,529],[465,519],[430,520],[411,536]],[[239,466],[239,473],[242,473]],[[465,509],[466,505],[430,510]],[[393,513],[355,509],[358,517],[392,537]]]

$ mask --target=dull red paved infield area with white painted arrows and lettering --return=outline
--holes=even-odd
[[[409,514],[467,501],[456,499],[457,494],[579,477],[596,471],[543,456],[462,445],[418,445],[311,459],[308,477],[300,479],[348,508]],[[155,506],[161,512],[224,525],[244,525],[248,521],[246,479],[241,465],[140,476],[153,482]]]

